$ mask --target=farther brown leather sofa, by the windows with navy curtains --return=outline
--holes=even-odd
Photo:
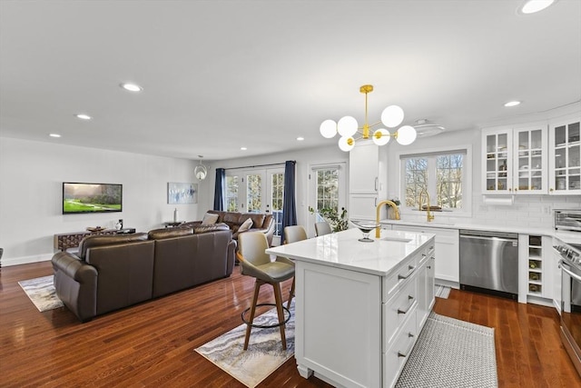
[[[272,214],[262,214],[262,213],[238,213],[238,212],[222,212],[219,210],[209,210],[207,213],[218,214],[218,224],[227,224],[232,231],[232,238],[238,241],[238,229],[244,221],[251,218],[252,226],[246,232],[262,232],[266,234],[266,239],[269,245],[272,244],[272,236],[274,235],[275,220]],[[200,225],[202,221],[192,221],[180,225],[181,227],[196,227]]]

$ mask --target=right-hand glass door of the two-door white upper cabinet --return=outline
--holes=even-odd
[[[547,194],[547,124],[514,129],[513,190]]]

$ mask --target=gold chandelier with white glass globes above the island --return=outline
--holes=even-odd
[[[341,151],[349,152],[355,146],[355,142],[359,140],[371,139],[373,143],[378,145],[385,145],[389,143],[389,139],[394,137],[399,144],[409,145],[416,140],[416,129],[410,125],[403,125],[399,127],[393,134],[389,133],[386,128],[377,128],[373,133],[373,127],[384,124],[388,128],[395,128],[403,122],[403,109],[398,105],[389,105],[383,110],[381,114],[381,121],[369,124],[367,118],[367,95],[373,92],[373,85],[363,85],[359,87],[359,92],[365,94],[365,123],[359,127],[357,120],[351,116],[342,117],[339,122],[333,120],[325,120],[320,124],[320,134],[328,139],[340,134],[339,148]]]

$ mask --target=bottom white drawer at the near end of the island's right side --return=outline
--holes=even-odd
[[[410,312],[409,320],[406,321],[402,330],[396,336],[393,345],[389,350],[383,353],[383,383],[382,386],[390,387],[396,382],[399,373],[409,358],[409,353],[418,338],[418,329],[416,328],[416,308]]]

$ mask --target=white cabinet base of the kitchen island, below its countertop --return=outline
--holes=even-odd
[[[434,245],[429,239],[387,275],[296,260],[300,375],[344,387],[393,386],[434,303]]]

